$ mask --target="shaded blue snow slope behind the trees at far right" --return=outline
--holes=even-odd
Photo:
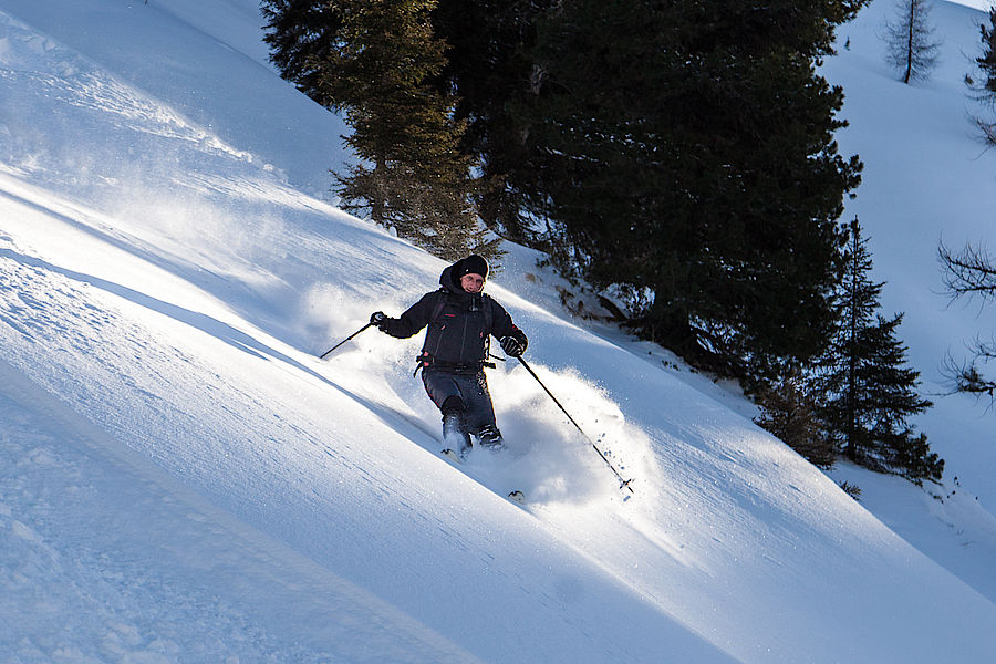
[[[966,0],[989,7],[984,0]],[[996,153],[978,139],[971,115],[988,115],[972,98],[965,75],[978,80],[979,23],[988,15],[972,7],[934,2],[934,39],[942,43],[937,68],[926,81],[903,85],[884,61],[879,35],[898,11],[876,0],[858,20],[839,30],[839,56],[824,74],[843,85],[839,132],[841,152],[864,162],[863,183],[848,201],[847,218],[861,218],[875,263],[886,281],[883,313],[905,312],[900,335],[935,406],[916,419],[931,447],[947,461],[945,476],[959,476],[989,511],[996,511],[996,422],[987,402],[947,396],[945,357],[969,357],[976,338],[996,331],[996,308],[979,301],[952,303],[944,294],[937,248],[966,242],[993,248],[992,201],[996,195]]]

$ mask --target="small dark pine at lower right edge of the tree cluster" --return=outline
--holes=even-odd
[[[840,289],[840,322],[816,377],[826,400],[820,414],[848,459],[914,480],[940,479],[944,463],[907,424],[933,404],[916,394],[920,373],[905,366],[906,349],[896,338],[903,314],[886,319],[878,313],[884,283],[871,281],[871,270],[855,218]]]

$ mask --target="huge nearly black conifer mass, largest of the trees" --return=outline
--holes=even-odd
[[[538,22],[538,94],[507,175],[598,286],[693,363],[766,372],[829,336],[842,197],[840,89],[817,75],[863,1],[564,0]]]

